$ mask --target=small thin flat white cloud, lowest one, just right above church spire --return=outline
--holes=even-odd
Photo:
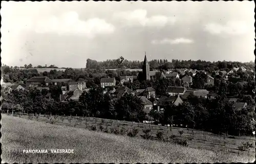
[[[151,43],[152,44],[189,44],[189,43],[194,43],[194,41],[186,38],[176,38],[176,39],[164,38],[162,40],[152,40]]]

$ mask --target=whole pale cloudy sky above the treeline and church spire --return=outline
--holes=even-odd
[[[1,2],[2,63],[254,61],[253,1]]]

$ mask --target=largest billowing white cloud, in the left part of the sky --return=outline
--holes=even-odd
[[[59,17],[52,16],[38,21],[35,25],[37,33],[78,34],[94,37],[97,34],[113,33],[115,27],[104,19],[91,18],[86,21],[80,20],[76,12],[68,12]]]

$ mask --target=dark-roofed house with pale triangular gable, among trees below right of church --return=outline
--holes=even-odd
[[[180,98],[179,95],[176,95],[176,96],[162,96],[157,104],[156,104],[156,107],[157,107],[157,111],[161,111],[164,109],[164,107],[168,104],[174,104],[174,105],[179,105],[181,103],[183,103],[182,99]]]

